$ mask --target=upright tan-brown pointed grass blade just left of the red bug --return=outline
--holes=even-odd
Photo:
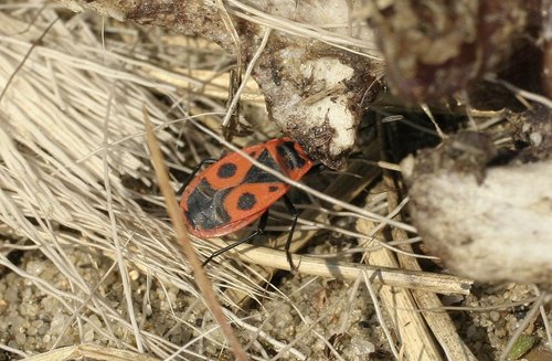
[[[209,280],[209,278],[206,277],[205,273],[203,272],[203,267],[201,266],[195,249],[192,243],[190,242],[190,238],[188,237],[188,232],[185,231],[184,227],[184,219],[182,212],[180,212],[177,200],[174,199],[174,193],[169,182],[169,177],[167,168],[163,163],[161,150],[159,149],[159,144],[153,134],[153,126],[149,120],[149,116],[146,108],[144,108],[144,117],[146,123],[146,139],[148,142],[149,150],[151,152],[151,161],[156,169],[157,178],[159,180],[159,188],[167,203],[167,211],[177,231],[177,236],[180,241],[179,244],[182,248],[182,252],[187,256],[188,262],[190,263],[192,272],[195,276],[194,278],[198,284],[198,287],[201,289],[201,293],[205,299],[209,309],[213,314],[214,319],[216,320],[216,322],[221,327],[222,332],[229,340],[230,347],[234,352],[234,355],[236,357],[237,360],[241,361],[248,360],[247,354],[242,349],[240,341],[237,340],[232,327],[226,320],[226,317],[224,316],[221,305],[219,304],[216,297],[214,296],[213,286]]]

